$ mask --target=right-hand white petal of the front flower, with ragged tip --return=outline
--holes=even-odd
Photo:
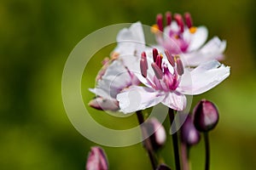
[[[177,90],[189,95],[202,94],[229,76],[230,66],[222,65],[217,60],[208,61],[192,71],[185,69]]]

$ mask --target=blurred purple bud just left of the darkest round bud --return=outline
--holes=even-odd
[[[187,116],[181,127],[181,138],[184,144],[194,145],[200,141],[200,133],[196,130],[191,116]]]

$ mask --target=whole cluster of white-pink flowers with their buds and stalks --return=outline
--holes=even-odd
[[[96,87],[90,88],[90,92],[96,94],[96,98],[90,100],[91,107],[124,114],[137,112],[137,116],[142,117],[140,114],[143,110],[161,103],[169,108],[172,123],[172,113],[186,109],[187,95],[203,94],[230,76],[230,67],[218,61],[224,59],[225,41],[213,37],[206,42],[207,28],[194,26],[189,13],[172,15],[167,12],[166,21],[163,18],[162,14],[158,14],[156,24],[151,27],[157,42],[152,47],[145,45],[140,22],[119,31],[117,47],[109,59],[102,61]],[[139,122],[142,124],[143,118]],[[144,142],[152,167],[169,169],[165,164],[157,167],[158,163],[154,161],[154,151],[165,144],[164,127],[154,118],[146,122],[148,127],[141,126],[143,135],[148,128],[154,129],[154,136]],[[206,134],[217,122],[216,106],[205,99],[201,100],[192,116],[188,116],[183,123],[182,146],[185,144],[186,148],[198,143],[199,132]],[[156,125],[160,127],[159,130],[155,128]],[[176,168],[179,169],[177,135],[173,135],[173,144]],[[108,163],[102,161],[102,151],[93,149],[91,155],[90,159],[98,159],[89,161],[98,166],[96,169],[108,168]],[[186,162],[186,157],[183,158]],[[90,169],[90,165],[87,169]]]

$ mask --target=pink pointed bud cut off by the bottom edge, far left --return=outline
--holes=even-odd
[[[99,146],[90,148],[86,170],[108,170],[107,156]]]

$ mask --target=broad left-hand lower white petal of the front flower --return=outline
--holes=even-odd
[[[120,111],[131,113],[140,111],[159,104],[165,94],[154,91],[153,88],[131,86],[117,95]]]

